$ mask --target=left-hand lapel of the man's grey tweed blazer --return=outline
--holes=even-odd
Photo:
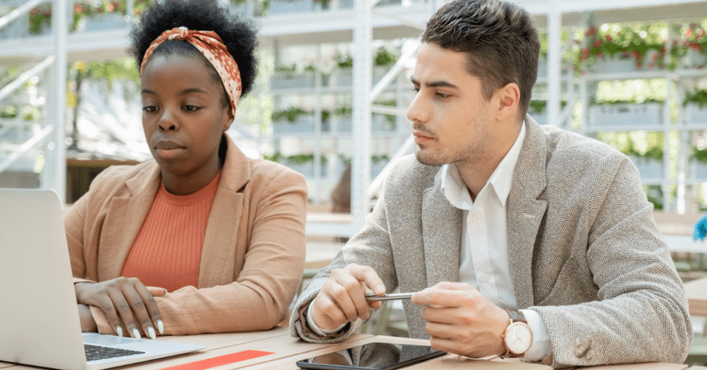
[[[452,206],[442,193],[441,173],[440,170],[435,185],[427,188],[422,196],[422,240],[428,287],[459,279],[462,210]]]

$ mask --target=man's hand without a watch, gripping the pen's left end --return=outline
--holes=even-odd
[[[385,285],[372,267],[352,263],[335,269],[312,301],[312,320],[324,330],[335,330],[357,318],[370,318],[370,308],[382,302],[366,301],[366,289],[385,294]]]

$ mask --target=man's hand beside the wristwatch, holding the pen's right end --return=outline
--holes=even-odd
[[[422,318],[434,349],[472,358],[506,353],[501,335],[508,313],[471,285],[441,282],[418,291],[411,302],[427,306]]]

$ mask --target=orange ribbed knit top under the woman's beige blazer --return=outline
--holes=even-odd
[[[160,186],[135,238],[122,276],[148,287],[175,291],[197,286],[201,248],[221,173],[190,195],[173,195]]]

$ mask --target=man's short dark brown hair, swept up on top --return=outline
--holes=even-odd
[[[514,82],[525,116],[537,79],[540,40],[530,13],[498,0],[455,0],[427,22],[422,42],[467,52],[467,70],[481,79],[486,100]]]

